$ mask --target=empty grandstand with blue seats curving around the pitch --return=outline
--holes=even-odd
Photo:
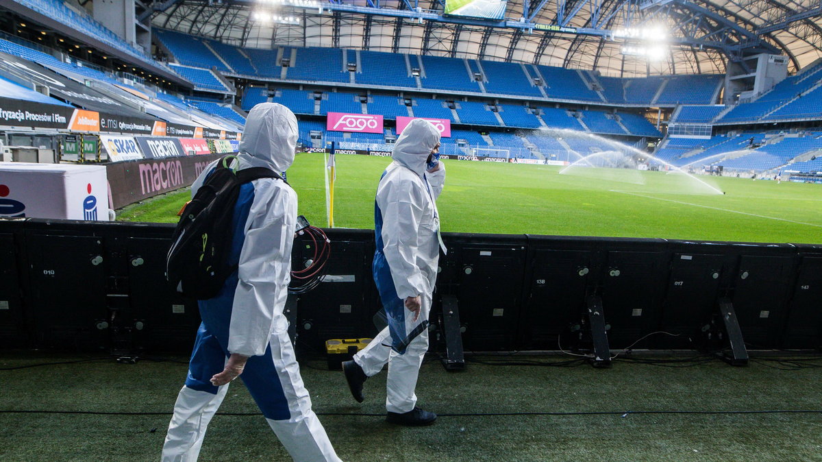
[[[16,37],[0,41],[0,51],[83,85],[97,82],[92,85],[99,85],[95,91],[166,122],[212,128],[222,124],[240,131],[248,110],[276,102],[312,127],[301,131],[303,146],[319,146],[327,139],[365,150],[390,150],[397,118],[422,117],[450,122],[455,136],[444,141],[449,145],[445,149],[464,154],[491,146],[493,150],[482,152],[547,160],[563,151],[567,155],[598,149],[579,141],[587,139],[584,136],[574,141],[573,136],[562,135],[571,131],[610,137],[628,146],[656,146],[659,157],[677,164],[704,159],[722,163],[728,171],[761,173],[786,165],[803,168],[810,163],[809,169],[815,168],[813,160],[805,159],[815,149],[814,142],[789,140],[816,139],[802,133],[802,123],[822,119],[816,110],[822,102],[822,65],[806,54],[801,65],[790,53],[785,53],[787,60],[773,58],[780,55],[778,47],[733,28],[739,46],[755,53],[743,53],[744,58],[732,63],[718,62],[711,54],[715,52],[692,50],[696,61],[683,64],[676,49],[669,52],[667,62],[655,61],[641,56],[642,49],[639,57],[631,55],[636,50],[629,47],[617,65],[613,53],[606,53],[613,51],[612,45],[603,42],[597,61],[584,65],[579,44],[563,60],[556,59],[547,43],[534,47],[523,41],[524,48],[518,49],[519,36],[507,47],[487,48],[492,26],[464,25],[454,18],[446,23],[482,31],[486,39],[475,42],[473,36],[455,36],[446,49],[436,21],[430,21],[427,30],[407,24],[402,30],[397,19],[394,33],[372,36],[364,25],[345,33],[339,27],[312,24],[270,27],[257,16],[248,26],[252,33],[238,35],[236,27],[248,16],[247,10],[235,6],[201,11],[158,7],[143,15],[155,26],[151,35],[145,35],[140,25],[123,23],[102,7],[84,10],[59,0],[15,4],[20,11],[12,14],[65,21],[83,32],[83,40],[96,38],[119,55],[100,56],[93,49],[83,54],[88,45],[82,40],[69,43],[62,38],[65,35],[51,37],[45,30],[33,35],[30,32],[36,30],[25,25],[19,26]],[[366,11],[357,14],[370,17]],[[214,27],[195,27],[192,15]],[[106,29],[106,21],[116,25],[114,32]],[[117,32],[132,26],[137,35]],[[266,27],[270,39],[261,35],[269,30]],[[298,37],[279,35],[297,30]],[[702,33],[710,38],[715,32],[707,28]],[[404,42],[403,37],[419,37],[422,44]],[[700,42],[704,43],[710,41]],[[16,77],[21,83],[21,76]],[[65,102],[85,108],[76,101]],[[381,116],[384,125],[380,134],[329,132],[322,127],[328,113]],[[780,125],[763,127],[766,122]],[[759,144],[730,142],[751,137]]]

